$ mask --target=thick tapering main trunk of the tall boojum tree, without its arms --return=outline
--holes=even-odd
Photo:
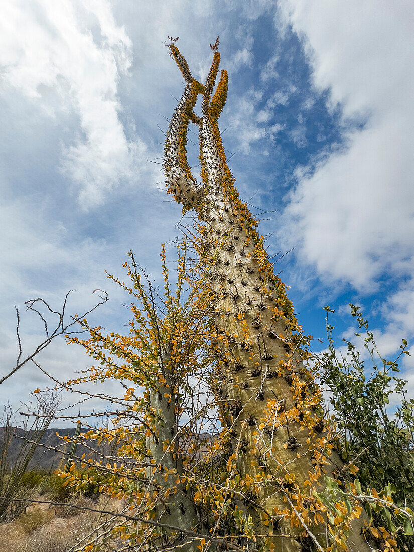
[[[318,425],[319,418],[311,407],[311,390],[317,388],[312,386],[302,363],[300,328],[293,306],[284,284],[263,257],[262,238],[252,226],[247,206],[233,190],[226,192],[223,181],[228,169],[221,161],[213,131],[210,121],[203,118],[200,140],[209,191],[203,199],[200,219],[205,224],[204,238],[212,261],[211,285],[221,298],[215,321],[224,353],[222,397],[228,402],[228,423],[233,432],[233,452],[238,452],[239,471],[256,481],[261,479],[255,501],[263,509],[250,513],[257,533],[263,535],[272,533],[269,524],[264,523],[268,514],[286,508],[286,493],[280,492],[278,479],[293,473],[295,482],[303,484],[319,472],[314,451],[315,441],[323,437],[323,426]],[[315,410],[318,402],[315,397]],[[269,412],[274,413],[273,417]],[[333,452],[325,466],[327,474],[332,476],[338,466],[342,468],[343,463]],[[272,475],[269,482],[268,475]],[[295,525],[291,527],[289,520],[280,518],[274,533],[290,534],[291,538],[270,538],[275,550],[307,550],[310,540],[299,538],[304,530],[299,518]],[[354,522],[349,550],[370,550],[361,534],[362,527],[362,520]],[[325,528],[321,529],[323,544]],[[312,532],[318,533],[315,528]]]

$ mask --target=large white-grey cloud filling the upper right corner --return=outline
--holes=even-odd
[[[319,89],[349,118],[368,119],[347,145],[302,176],[286,235],[327,278],[367,291],[384,273],[411,274],[414,254],[414,6],[351,0],[281,3]],[[280,14],[279,14],[280,15]]]

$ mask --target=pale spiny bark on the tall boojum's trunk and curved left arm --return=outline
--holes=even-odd
[[[298,418],[298,421],[259,430],[259,438],[253,436],[253,431],[258,431],[266,417],[268,400],[277,400],[281,411],[296,407],[298,401],[291,387],[291,373],[284,369],[282,377],[278,377],[277,373],[280,361],[291,355],[293,373],[301,377],[297,328],[291,325],[292,317],[288,315],[290,304],[283,284],[274,277],[273,270],[261,270],[258,259],[254,257],[257,238],[246,226],[246,218],[240,219],[235,201],[224,189],[226,166],[215,142],[213,123],[208,113],[211,90],[205,93],[203,118],[200,120],[201,162],[205,174],[203,187],[189,179],[185,167],[180,165],[179,132],[182,130],[182,115],[188,109],[189,91],[190,83],[169,127],[164,168],[169,189],[183,205],[197,205],[199,219],[205,225],[205,245],[213,259],[211,286],[219,298],[215,321],[219,331],[229,336],[229,345],[222,349],[227,357],[222,368],[222,396],[229,404],[233,448],[239,451],[238,465],[242,473],[252,477],[262,471],[270,474],[282,464],[289,466],[289,471],[296,474],[296,481],[303,482],[313,470],[312,453],[306,443],[311,428],[301,425]],[[277,317],[273,316],[275,307],[279,311]],[[248,350],[237,319],[240,313],[245,317],[250,331]],[[305,387],[306,382],[303,383]],[[240,447],[241,443],[243,447]],[[251,454],[250,450],[255,446],[257,453]],[[267,453],[270,453],[269,457]],[[341,465],[341,460],[333,454],[327,466],[328,473]],[[265,485],[257,498],[258,504],[269,512],[273,507],[283,507],[283,494],[279,491],[274,485]],[[273,539],[276,551],[300,552],[306,549],[306,539],[298,539],[305,527],[300,514],[298,520],[299,528],[280,521],[279,529],[290,533],[291,538]],[[268,528],[262,521],[260,516],[256,516],[257,531],[266,534]],[[370,550],[361,535],[361,528],[361,521],[355,521],[349,541],[350,551]],[[320,533],[322,544],[323,527]],[[315,549],[321,549],[310,532],[308,538]]]

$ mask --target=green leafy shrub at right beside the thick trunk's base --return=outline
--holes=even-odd
[[[414,399],[407,398],[408,381],[399,378],[400,358],[410,353],[402,339],[400,354],[386,360],[376,347],[374,335],[360,307],[351,306],[358,323],[355,336],[366,354],[343,339],[346,352],[340,354],[333,342],[334,327],[328,323],[328,351],[317,360],[322,385],[330,393],[333,418],[339,429],[338,449],[346,464],[358,468],[357,485],[370,495],[375,489],[391,496],[398,508],[388,509],[366,503],[368,517],[378,527],[396,533],[401,550],[414,552]],[[327,315],[334,312],[325,307]],[[394,406],[390,408],[390,398]]]

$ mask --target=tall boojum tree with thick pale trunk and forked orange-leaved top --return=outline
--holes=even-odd
[[[168,193],[198,219],[195,247],[210,272],[205,293],[216,300],[211,327],[217,392],[231,433],[230,462],[247,495],[240,507],[252,514],[255,532],[269,548],[321,550],[321,545],[345,548],[347,542],[349,550],[368,551],[357,519],[360,505],[346,508],[347,515],[339,514],[327,528],[326,508],[313,495],[323,487],[323,474],[332,476],[343,466],[332,454],[321,391],[304,364],[307,339],[227,166],[218,126],[227,97],[226,71],[214,92],[218,37],[210,45],[214,55],[205,84],[192,76],[175,41],[168,47],[185,89],[169,124],[164,172]],[[200,117],[194,113],[199,95]],[[202,183],[187,161],[190,121],[199,127]]]

